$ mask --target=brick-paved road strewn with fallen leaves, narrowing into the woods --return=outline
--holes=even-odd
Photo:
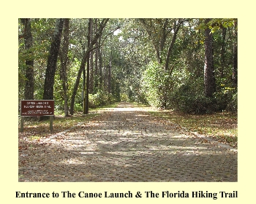
[[[119,103],[19,152],[19,181],[237,181],[237,153]]]

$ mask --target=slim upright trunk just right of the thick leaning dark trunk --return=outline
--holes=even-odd
[[[64,19],[64,31],[63,31],[63,44],[60,52],[61,59],[61,85],[63,89],[63,98],[64,98],[64,114],[65,117],[69,115],[68,105],[67,105],[67,53],[69,50],[69,19]]]

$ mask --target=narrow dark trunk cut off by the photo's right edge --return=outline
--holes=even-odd
[[[238,45],[237,45],[237,19],[235,20],[234,28],[235,43],[233,48],[233,87],[237,88],[238,86]]]

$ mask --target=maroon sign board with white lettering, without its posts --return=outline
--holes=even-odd
[[[52,116],[54,115],[53,100],[22,100],[20,116]]]

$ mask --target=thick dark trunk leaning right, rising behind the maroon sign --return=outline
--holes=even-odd
[[[53,100],[54,76],[56,72],[56,63],[59,54],[59,47],[61,44],[61,33],[63,29],[63,24],[63,18],[56,19],[56,26],[53,33],[53,41],[50,44],[48,63],[45,71],[45,85],[43,94],[43,99],[45,100]]]

